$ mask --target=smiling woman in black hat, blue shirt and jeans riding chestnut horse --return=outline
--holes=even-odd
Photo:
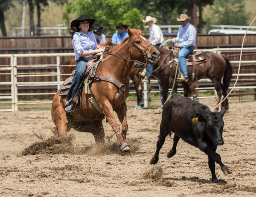
[[[86,71],[86,63],[91,60],[93,54],[104,51],[101,46],[97,45],[96,38],[92,32],[91,27],[94,22],[95,19],[90,19],[86,15],[81,15],[70,24],[70,34],[76,55],[76,72],[66,97],[67,103],[65,111],[67,112],[74,110],[76,103],[73,103],[72,99],[82,83],[84,73]]]

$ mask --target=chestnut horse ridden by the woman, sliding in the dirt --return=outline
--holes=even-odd
[[[71,128],[81,132],[90,132],[95,137],[96,143],[105,142],[105,133],[102,125],[102,119],[106,117],[116,134],[122,152],[130,151],[125,143],[128,124],[126,120],[126,102],[129,94],[128,77],[134,61],[143,61],[146,63],[156,63],[160,59],[160,53],[152,46],[147,39],[142,36],[141,30],[128,29],[129,37],[125,38],[118,46],[114,55],[108,56],[99,63],[96,73],[101,77],[108,77],[110,80],[116,80],[121,83],[121,88],[108,81],[101,79],[99,75],[93,79],[89,86],[90,91],[95,97],[103,114],[100,113],[89,101],[88,94],[84,89],[81,93],[81,100],[76,106],[76,110],[70,113],[64,111],[66,96],[60,96],[60,90],[57,91],[52,102],[52,120],[55,124],[53,132],[60,137],[66,138],[67,131]],[[126,88],[125,88],[126,87]],[[116,122],[114,112],[116,111],[119,121],[122,123],[122,132]]]

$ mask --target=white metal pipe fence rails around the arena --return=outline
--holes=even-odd
[[[211,49],[211,50],[205,50],[205,51],[213,51],[215,53],[221,53],[221,51],[227,51],[227,50],[235,50],[233,48],[230,49]],[[241,48],[236,49],[237,51],[241,50]],[[256,48],[244,48],[244,50],[256,50]],[[42,100],[42,101],[19,101],[18,96],[21,95],[54,95],[55,92],[41,92],[41,93],[18,93],[18,89],[20,87],[56,87],[56,90],[60,89],[61,86],[61,76],[66,76],[70,74],[61,74],[60,72],[60,57],[68,57],[72,56],[74,57],[74,53],[52,53],[52,54],[0,54],[0,58],[8,57],[10,58],[10,65],[0,65],[0,71],[9,71],[9,73],[3,73],[3,74],[9,74],[11,75],[11,80],[9,82],[0,82],[0,86],[11,86],[11,94],[0,94],[0,100],[4,100],[0,102],[2,103],[11,103],[12,108],[10,109],[0,109],[1,111],[17,111],[19,105],[28,105],[28,104],[48,104],[52,103],[51,100]],[[56,64],[50,64],[50,65],[17,65],[17,58],[20,57],[56,57]],[[232,64],[238,64],[239,61],[230,61]],[[241,63],[256,63],[256,61],[241,61]],[[73,66],[73,65],[61,65],[61,66]],[[25,73],[25,72],[17,72],[17,68],[56,68],[56,72],[46,72],[46,73],[39,73],[39,72],[32,72],[32,73]],[[19,82],[19,77],[39,77],[39,76],[56,76],[57,81],[37,81],[37,82]],[[236,77],[237,74],[233,74],[232,76]],[[256,76],[256,73],[242,73],[239,74],[241,77],[254,77]],[[211,83],[211,80],[209,79],[201,79],[198,81],[199,83]],[[151,93],[158,93],[160,92],[159,89],[151,89],[151,86],[154,83],[158,83],[157,80],[150,80],[146,81],[143,80],[143,95],[144,95],[144,106],[145,107],[151,107]],[[153,86],[152,86],[153,87]],[[205,91],[214,91],[214,87],[199,87],[196,88],[199,92],[205,92]],[[230,88],[231,89],[231,88]],[[244,90],[244,89],[250,89],[250,90],[256,90],[256,86],[237,86],[235,89],[238,90]],[[171,89],[169,89],[171,91]],[[178,92],[182,92],[183,89],[178,88]],[[136,93],[135,91],[131,91],[131,94]],[[198,97],[199,99],[215,99],[216,96],[206,96],[206,97]],[[11,100],[11,102],[8,102],[6,100]]]

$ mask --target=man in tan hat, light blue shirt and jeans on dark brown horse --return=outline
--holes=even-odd
[[[188,17],[186,14],[180,14],[180,18],[177,18],[177,21],[180,21],[181,26],[177,33],[177,37],[172,40],[175,47],[180,48],[179,52],[179,62],[180,70],[182,76],[177,78],[178,82],[189,82],[188,69],[186,66],[186,58],[195,48],[195,39],[196,39],[196,29],[189,23],[191,17]]]

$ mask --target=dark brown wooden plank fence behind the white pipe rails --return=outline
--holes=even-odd
[[[173,36],[165,36],[165,40],[174,38]],[[241,47],[243,35],[198,35],[198,48],[199,49],[212,49],[212,48],[226,48],[226,47]],[[111,39],[111,36],[107,36],[107,39]],[[0,54],[27,54],[27,53],[73,53],[73,47],[69,36],[62,37],[0,37]],[[256,47],[256,35],[247,35],[244,43],[244,47]],[[221,51],[221,54],[225,54],[232,60],[239,60],[240,51]],[[71,57],[61,57],[61,61],[68,60]],[[256,51],[243,51],[242,60],[256,60]],[[42,64],[56,64],[55,57],[21,57],[17,59],[18,65],[42,65]],[[10,58],[0,58],[1,65],[10,65]],[[47,72],[54,73],[55,68],[19,68],[18,73],[38,73]],[[5,74],[6,73],[6,74]],[[237,73],[236,65],[233,65],[233,73]],[[255,64],[244,64],[242,66],[241,73],[256,73]],[[242,77],[244,83],[246,79],[255,77]],[[10,81],[10,75],[7,71],[1,71],[0,81]],[[31,81],[56,81],[56,76],[41,76],[41,77],[20,77],[19,82],[31,82]],[[248,83],[251,83],[248,82]],[[37,87],[38,92],[51,92],[55,89],[50,87]],[[34,87],[20,88],[20,92],[32,92],[35,91]],[[0,94],[10,93],[10,86],[1,86]],[[49,95],[41,95],[41,99],[47,99]],[[28,96],[19,97],[19,99],[29,99]]]

